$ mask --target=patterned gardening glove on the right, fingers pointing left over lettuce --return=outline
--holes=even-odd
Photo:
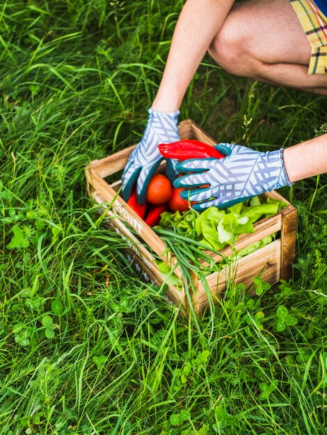
[[[177,178],[174,186],[186,188],[180,195],[196,201],[194,209],[226,208],[260,193],[291,186],[283,149],[259,152],[233,144],[219,144],[218,149],[224,158],[191,158],[177,164],[177,171],[186,175]],[[206,184],[209,187],[197,188]]]

